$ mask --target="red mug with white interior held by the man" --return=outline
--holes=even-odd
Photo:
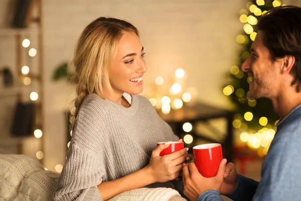
[[[193,147],[195,164],[204,177],[216,175],[223,159],[222,146],[218,143],[202,144]]]

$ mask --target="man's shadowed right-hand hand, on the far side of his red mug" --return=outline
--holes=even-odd
[[[226,165],[226,170],[224,174],[224,182],[222,183],[220,193],[224,195],[231,194],[237,185],[238,174],[233,163],[228,163]]]

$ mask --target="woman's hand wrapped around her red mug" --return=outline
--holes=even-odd
[[[146,166],[147,171],[153,177],[153,182],[167,182],[174,180],[181,175],[182,163],[188,156],[188,148],[181,149],[177,152],[160,156],[160,152],[170,144],[160,144],[150,157],[149,164]]]

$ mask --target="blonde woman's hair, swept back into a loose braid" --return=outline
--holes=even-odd
[[[70,131],[88,94],[94,92],[104,98],[103,86],[112,92],[108,69],[124,32],[134,32],[139,37],[138,30],[132,24],[115,18],[100,17],[91,22],[81,34],[72,62],[75,67],[73,81],[77,83],[77,97],[74,99],[75,108],[71,110]]]

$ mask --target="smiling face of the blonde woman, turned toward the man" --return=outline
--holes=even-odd
[[[144,51],[138,36],[133,32],[125,32],[117,45],[117,54],[108,71],[114,93],[141,93],[142,76],[146,71]]]

